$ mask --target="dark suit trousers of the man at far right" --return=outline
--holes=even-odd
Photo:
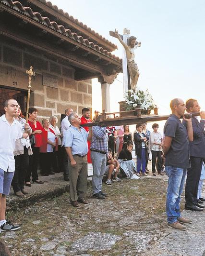
[[[202,171],[202,162],[202,158],[190,157],[191,168],[187,169],[185,186],[186,205],[194,205],[196,203],[199,180]]]

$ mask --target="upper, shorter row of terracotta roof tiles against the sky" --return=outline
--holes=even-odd
[[[49,8],[51,8],[51,9],[55,10],[56,12],[60,13],[60,15],[65,16],[66,18],[68,18],[73,23],[77,24],[78,26],[83,27],[84,29],[86,29],[87,31],[89,31],[90,33],[92,33],[93,35],[98,37],[100,40],[103,40],[106,43],[109,43],[110,46],[112,46],[113,48],[115,48],[115,49],[118,48],[118,46],[116,44],[114,44],[114,43],[110,42],[108,39],[102,37],[101,35],[99,35],[99,33],[92,30],[90,27],[87,27],[87,25],[83,24],[78,19],[73,18],[73,16],[70,16],[68,13],[64,12],[62,9],[59,9],[58,6],[53,5],[50,1],[46,1],[46,0],[38,0],[38,1],[40,1],[43,4],[46,4]]]

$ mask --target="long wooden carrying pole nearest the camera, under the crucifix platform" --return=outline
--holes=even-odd
[[[186,115],[186,114],[185,114]],[[200,112],[192,113],[192,116],[200,116]],[[92,123],[86,123],[82,124],[81,126],[101,126],[101,127],[108,127],[108,126],[119,126],[119,125],[129,125],[129,124],[137,124],[137,123],[145,123],[145,122],[153,122],[153,121],[163,121],[167,120],[169,118],[169,115],[166,116],[160,116],[160,115],[150,115],[150,116],[130,116],[130,117],[121,117],[121,118],[111,118],[106,119],[99,122],[92,122]],[[181,117],[182,118],[182,117]]]

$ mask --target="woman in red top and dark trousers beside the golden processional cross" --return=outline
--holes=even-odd
[[[32,135],[30,136],[31,148],[33,150],[33,155],[29,157],[29,166],[25,175],[25,186],[31,187],[31,174],[33,183],[43,184],[43,181],[38,179],[38,162],[39,162],[39,148],[42,145],[42,131],[43,127],[37,118],[37,109],[28,109],[28,123],[32,129]]]

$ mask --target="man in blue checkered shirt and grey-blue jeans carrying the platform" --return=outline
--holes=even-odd
[[[102,115],[97,117],[96,122],[98,121],[102,121]],[[108,194],[102,192],[102,179],[105,174],[106,156],[108,155],[108,135],[106,133],[106,127],[93,126],[90,150],[93,163],[93,196],[97,199],[105,199]]]

